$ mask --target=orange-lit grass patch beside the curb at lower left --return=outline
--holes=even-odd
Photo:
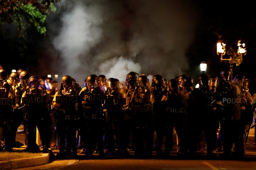
[[[19,158],[35,158],[42,156],[42,153],[22,152],[14,150],[13,152],[0,151],[0,161],[19,159]]]

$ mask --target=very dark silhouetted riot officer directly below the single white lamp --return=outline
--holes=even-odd
[[[206,74],[200,75],[197,80],[199,87],[191,92],[188,102],[188,121],[192,129],[190,152],[196,153],[197,142],[201,140],[200,136],[204,134],[207,143],[207,157],[214,158],[213,148],[217,141],[219,128],[218,117],[214,112],[216,98],[210,91],[209,78]]]

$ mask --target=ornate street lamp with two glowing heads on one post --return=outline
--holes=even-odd
[[[227,54],[229,58],[223,58],[225,54]],[[217,43],[217,55],[220,56],[220,62],[224,61],[229,63],[231,78],[233,79],[233,64],[239,66],[242,63],[242,57],[246,55],[245,43],[241,43],[241,40],[239,40],[237,51],[233,50],[232,47],[226,51],[226,44],[219,40]]]

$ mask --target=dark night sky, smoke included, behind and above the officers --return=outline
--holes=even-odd
[[[46,36],[28,28],[25,55],[0,65],[8,71],[23,67],[37,75],[70,75],[81,86],[90,74],[125,81],[130,71],[150,80],[155,74],[167,80],[187,74],[196,84],[202,61],[208,75],[229,69],[216,53],[219,38],[233,49],[242,39],[247,54],[240,66],[234,65],[233,76],[245,75],[253,89],[256,15],[252,2],[241,3],[62,0],[47,15]],[[22,44],[15,29],[5,24],[0,38],[3,56],[17,58]]]

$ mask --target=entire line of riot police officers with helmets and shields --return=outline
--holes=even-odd
[[[202,74],[197,81],[199,88],[193,88],[187,75],[169,81],[154,75],[150,83],[146,75],[130,72],[124,87],[116,78],[92,74],[81,89],[69,75],[59,84],[26,70],[10,75],[0,70],[1,140],[5,150],[12,151],[17,128],[23,124],[28,152],[39,151],[37,128],[43,152],[49,152],[56,135],[58,159],[75,158],[78,145],[87,158],[93,157],[95,149],[99,157],[127,157],[131,143],[134,157],[150,158],[155,143],[157,155],[168,158],[175,129],[178,156],[193,158],[203,132],[207,157],[214,158],[220,127],[223,157],[242,158],[246,127],[255,110],[249,80],[242,75],[232,80],[230,72],[221,72],[210,77]]]

